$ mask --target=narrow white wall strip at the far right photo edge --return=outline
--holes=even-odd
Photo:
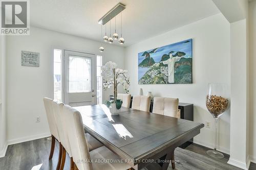
[[[256,1],[249,3],[250,155],[256,163]]]

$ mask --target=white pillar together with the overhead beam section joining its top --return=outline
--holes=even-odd
[[[250,163],[248,0],[212,1],[230,22],[231,113],[228,163],[248,169]]]

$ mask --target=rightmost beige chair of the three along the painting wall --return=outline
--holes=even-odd
[[[154,98],[153,113],[180,118],[179,99]]]

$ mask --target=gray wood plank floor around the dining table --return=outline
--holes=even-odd
[[[55,151],[52,160],[48,160],[50,153],[51,140],[47,138],[32,140],[23,143],[9,145],[6,156],[0,158],[1,170],[42,170],[56,169],[58,159],[58,142],[55,145]],[[205,152],[208,148],[197,144],[191,144],[185,150],[177,148],[175,150],[175,159],[177,170],[196,170],[196,169],[240,169],[227,164],[228,155],[224,159],[212,159]],[[36,168],[37,166],[37,168]],[[40,168],[38,168],[38,166]],[[69,169],[69,158],[66,158],[65,170]],[[169,166],[168,170],[172,167]],[[250,170],[256,169],[256,164],[251,163]]]

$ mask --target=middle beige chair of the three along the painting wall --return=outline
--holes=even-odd
[[[150,96],[145,96],[145,95],[133,96],[132,109],[149,112],[150,111]]]

